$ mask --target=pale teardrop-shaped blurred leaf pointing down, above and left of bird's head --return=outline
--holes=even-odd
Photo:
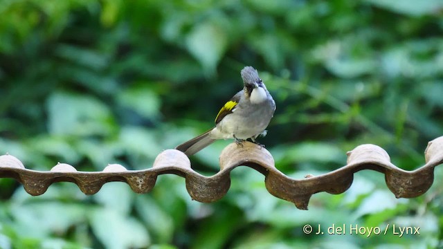
[[[199,61],[206,73],[213,75],[224,55],[228,38],[221,27],[211,22],[195,26],[186,37],[186,48]]]

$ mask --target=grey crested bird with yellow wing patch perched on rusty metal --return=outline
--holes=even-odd
[[[217,139],[234,138],[237,144],[257,136],[266,135],[266,127],[275,111],[275,102],[252,66],[245,66],[240,73],[244,87],[234,95],[217,114],[215,127],[177,146],[187,156],[196,154]]]

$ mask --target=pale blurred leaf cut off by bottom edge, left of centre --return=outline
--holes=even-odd
[[[89,219],[94,234],[105,248],[145,248],[150,244],[143,225],[117,210],[89,209]]]

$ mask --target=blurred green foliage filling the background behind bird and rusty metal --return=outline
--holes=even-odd
[[[260,140],[294,178],[345,164],[363,143],[404,169],[423,164],[443,122],[443,3],[428,1],[0,1],[0,154],[30,169],[58,161],[151,167],[209,129],[260,71],[277,112]],[[219,141],[192,158],[217,172]],[[232,173],[228,194],[196,203],[183,178],[150,194],[123,183],[94,196],[55,183],[31,197],[0,180],[0,248],[436,248],[442,170],[424,196],[395,199],[377,172],[309,211],[271,196],[264,176]],[[302,226],[419,226],[420,235],[304,234]]]

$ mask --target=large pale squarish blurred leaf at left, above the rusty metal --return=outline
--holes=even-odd
[[[92,96],[56,92],[46,104],[53,134],[105,136],[114,128],[108,107]]]

